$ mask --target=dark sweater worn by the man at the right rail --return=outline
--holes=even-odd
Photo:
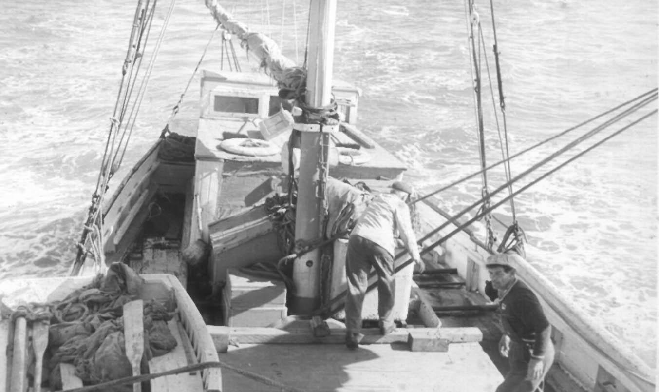
[[[536,295],[517,280],[500,303],[501,322],[505,333],[518,343],[533,343],[532,356],[542,358],[550,344],[549,321]]]

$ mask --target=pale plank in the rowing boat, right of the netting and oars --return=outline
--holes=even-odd
[[[170,352],[167,352],[167,354],[151,358],[149,361],[149,370],[151,373],[165,372],[167,370],[188,366],[185,346],[181,340],[177,321],[175,319],[169,320],[167,327],[169,327],[169,331],[171,331],[171,334],[174,335],[176,339],[176,347]],[[194,374],[173,374],[171,376],[163,376],[151,380],[152,391],[183,392],[202,391],[203,389],[202,379],[196,372]]]

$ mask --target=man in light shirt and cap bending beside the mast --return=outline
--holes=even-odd
[[[345,344],[355,350],[363,338],[362,305],[368,288],[368,272],[378,273],[378,315],[380,333],[387,335],[395,329],[393,323],[393,252],[396,233],[414,259],[420,271],[424,265],[412,230],[410,211],[406,202],[413,193],[406,183],[391,184],[391,193],[380,194],[364,209],[348,240],[345,273],[348,295],[345,300]]]

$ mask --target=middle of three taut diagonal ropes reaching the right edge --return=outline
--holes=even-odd
[[[542,166],[542,165],[546,164],[547,162],[549,162],[550,160],[553,160],[554,158],[556,158],[556,156],[559,156],[560,154],[563,154],[563,152],[569,150],[570,148],[575,147],[575,146],[578,145],[579,143],[582,143],[583,141],[585,141],[585,140],[589,139],[590,137],[596,135],[596,134],[599,133],[600,131],[606,129],[606,127],[609,127],[610,125],[612,125],[613,123],[616,123],[616,122],[619,121],[620,119],[623,119],[624,117],[627,117],[627,115],[629,115],[629,114],[631,114],[631,113],[633,113],[633,112],[636,112],[637,110],[643,108],[644,106],[646,106],[647,104],[649,104],[650,102],[652,102],[652,101],[654,101],[654,100],[656,100],[656,94],[654,94],[654,96],[651,97],[651,98],[646,98],[643,102],[640,102],[639,104],[636,104],[635,106],[633,106],[632,108],[630,108],[629,110],[627,110],[628,113],[623,113],[623,114],[619,114],[619,115],[617,115],[617,116],[614,117],[613,119],[610,119],[610,120],[606,121],[605,123],[603,123],[603,124],[601,124],[601,125],[598,125],[598,126],[595,127],[594,129],[591,129],[590,131],[588,131],[587,133],[585,133],[585,135],[581,135],[581,136],[578,137],[575,141],[572,141],[571,143],[568,143],[567,145],[565,145],[565,147],[563,147],[563,148],[559,148],[559,150],[557,150],[557,151],[554,152],[553,154],[550,154],[550,156],[548,156],[547,158],[544,158],[544,159],[540,160],[540,162],[534,164],[533,166],[531,166],[530,168],[528,168],[527,170],[525,170],[525,171],[522,172],[521,174],[515,176],[515,178],[513,178],[513,179],[511,180],[511,182],[517,182],[517,181],[519,181],[521,178],[527,176],[527,174],[529,174],[530,172],[536,170],[536,169],[539,168],[540,166]],[[490,193],[490,195],[495,195],[496,193],[499,193],[499,192],[501,191],[501,189],[507,187],[507,185],[508,185],[508,183],[505,183],[505,184],[501,185],[500,187],[498,187],[497,189],[495,189],[494,191],[492,191],[492,193]],[[526,189],[526,187],[523,188],[523,189]],[[515,195],[517,195],[517,194],[519,194],[519,191],[515,191],[514,193],[512,193],[511,195],[509,195],[509,197],[513,197],[513,196],[515,196]],[[509,197],[506,197],[506,198],[503,199],[503,200],[507,201],[507,200],[509,199]],[[463,209],[462,211],[460,211],[460,212],[458,212],[457,214],[455,214],[455,215],[453,216],[453,218],[455,219],[455,218],[459,218],[460,216],[463,216],[465,213],[469,212],[471,209],[473,209],[474,207],[476,207],[477,205],[479,205],[480,203],[482,203],[483,200],[484,200],[484,198],[479,199],[479,200],[476,201],[475,203],[471,204],[469,207],[466,207],[466,208]],[[498,205],[500,205],[500,204],[498,204]],[[483,211],[482,211],[481,214],[476,214],[476,215],[477,215],[477,216],[481,216],[481,217],[482,217],[482,216],[485,216],[485,211],[486,211],[486,210],[487,210],[487,211],[492,211],[492,209],[491,209],[490,207],[488,207],[488,208],[486,208],[486,209],[483,209]],[[472,220],[471,222],[473,222],[473,220]],[[426,236],[424,236],[421,240],[418,240],[418,242],[423,242],[424,240],[427,240],[428,238],[430,238],[431,236],[433,236],[434,234],[436,234],[437,232],[439,232],[440,230],[442,230],[443,228],[445,228],[445,226],[447,226],[449,223],[450,223],[450,222],[445,222],[444,224],[440,225],[438,228],[436,228],[436,229],[432,230],[430,233],[426,234]]]

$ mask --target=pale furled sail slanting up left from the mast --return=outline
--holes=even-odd
[[[206,0],[206,7],[210,9],[217,23],[241,40],[241,46],[246,48],[252,57],[256,57],[270,77],[280,85],[290,85],[291,69],[297,68],[295,61],[281,54],[281,49],[270,37],[262,33],[250,32],[245,24],[235,20],[217,3],[217,0]]]

